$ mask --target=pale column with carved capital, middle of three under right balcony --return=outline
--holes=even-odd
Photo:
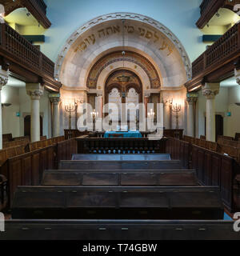
[[[219,92],[219,83],[206,83],[202,94],[206,97],[206,140],[216,141],[215,96]]]

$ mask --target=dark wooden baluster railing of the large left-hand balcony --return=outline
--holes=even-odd
[[[0,24],[0,52],[39,75],[54,78],[54,62],[6,23]]]

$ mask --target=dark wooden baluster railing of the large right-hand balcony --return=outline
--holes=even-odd
[[[209,74],[219,64],[224,65],[230,58],[239,55],[239,51],[240,24],[235,24],[192,63],[192,78],[199,74]]]

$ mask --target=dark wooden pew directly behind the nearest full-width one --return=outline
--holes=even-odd
[[[18,186],[12,218],[222,219],[218,187]]]

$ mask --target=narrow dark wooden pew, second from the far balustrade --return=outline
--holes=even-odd
[[[173,170],[182,169],[179,160],[168,161],[94,161],[70,160],[60,161],[58,169],[62,170]]]

